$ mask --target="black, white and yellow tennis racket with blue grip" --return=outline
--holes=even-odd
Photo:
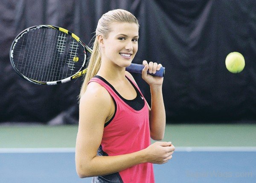
[[[87,72],[92,49],[76,34],[57,26],[29,27],[17,35],[10,50],[13,69],[24,79],[45,85],[73,80]],[[143,65],[132,63],[126,71],[142,73]],[[163,77],[165,68],[155,76]],[[149,74],[149,73],[148,73]]]

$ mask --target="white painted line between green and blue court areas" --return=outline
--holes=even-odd
[[[175,147],[176,152],[256,152],[256,147]],[[69,153],[75,148],[0,148],[0,153]]]

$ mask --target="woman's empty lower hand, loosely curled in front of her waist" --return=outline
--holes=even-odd
[[[171,142],[155,142],[145,150],[145,159],[148,163],[163,164],[172,159],[175,147]]]

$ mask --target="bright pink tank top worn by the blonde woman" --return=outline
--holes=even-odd
[[[140,92],[138,86],[129,78],[128,80]],[[151,142],[148,106],[143,94],[140,92],[145,104],[141,110],[137,111],[125,103],[111,88],[113,86],[109,86],[109,83],[96,77],[93,77],[90,82],[96,82],[103,86],[111,94],[116,105],[114,117],[104,128],[102,142],[97,154],[116,156],[147,148]],[[93,177],[92,182],[154,183],[153,164],[141,163],[115,174]]]

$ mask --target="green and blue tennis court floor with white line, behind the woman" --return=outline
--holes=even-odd
[[[75,168],[78,126],[1,126],[3,183],[90,183]],[[256,125],[167,125],[172,160],[154,165],[156,183],[253,183]]]

